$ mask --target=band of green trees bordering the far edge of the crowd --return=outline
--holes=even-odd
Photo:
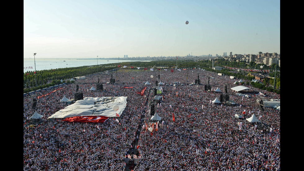
[[[70,68],[58,68],[58,69],[52,69],[52,70],[39,70],[34,73],[33,71],[27,71],[23,74],[23,92],[28,93],[31,91],[47,88],[54,85],[59,85],[61,83],[73,83],[70,82],[69,79],[75,78],[78,76],[85,76],[97,73],[97,67],[99,72],[104,72],[107,70],[113,70],[113,69],[120,69],[118,68],[118,65],[121,65],[121,68],[123,66],[127,66],[127,69],[130,69],[131,66],[133,66],[133,70],[138,70],[137,67],[140,67],[141,70],[144,68],[150,69],[152,67],[158,67],[158,66],[165,66],[168,69],[172,68],[178,68],[178,69],[205,69],[207,71],[211,72],[219,72],[212,69],[213,66],[229,66],[234,68],[247,68],[256,67],[256,64],[251,62],[249,65],[243,63],[243,62],[229,62],[223,59],[214,61],[212,64],[212,61],[210,60],[160,60],[160,61],[149,61],[149,62],[141,62],[141,61],[131,61],[131,62],[119,62],[119,63],[113,63],[113,64],[103,64],[103,65],[92,65],[92,66],[79,66],[79,67],[70,67]],[[260,66],[260,65],[257,65]],[[277,66],[278,67],[278,66]],[[270,67],[273,69],[273,67]],[[258,69],[258,68],[257,68]],[[277,68],[278,69],[278,68]],[[235,70],[230,70],[224,68],[220,71],[222,74],[225,74],[227,76],[235,76],[238,79],[247,79],[252,80],[254,79],[253,76],[248,75],[248,72],[236,72]],[[270,87],[267,87],[269,91],[277,91],[277,89],[280,88],[280,72],[276,71],[276,79],[275,79],[275,89],[270,89]],[[269,75],[274,77],[274,71],[269,73]],[[60,80],[63,80],[61,82]],[[67,80],[67,81],[65,81]],[[274,83],[274,79],[269,79],[269,83]],[[36,86],[37,85],[37,86]],[[263,85],[265,87],[265,85]],[[263,89],[263,88],[261,88]],[[265,88],[266,90],[266,88]],[[268,91],[268,90],[267,90]]]

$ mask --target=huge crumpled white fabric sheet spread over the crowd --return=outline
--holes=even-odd
[[[113,106],[118,105],[118,110],[113,110]],[[66,106],[48,117],[68,118],[74,116],[106,116],[119,117],[127,106],[127,97],[84,97],[74,104]],[[115,106],[117,107],[117,106]]]

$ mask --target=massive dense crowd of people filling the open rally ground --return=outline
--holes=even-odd
[[[198,75],[203,85],[190,86]],[[216,97],[220,99],[221,93],[204,90],[209,77],[214,78],[209,82],[213,90],[219,88],[225,93],[227,86],[235,106],[210,103]],[[235,80],[196,69],[119,70],[117,75],[113,73],[115,84],[103,84],[103,91],[90,91],[91,87],[96,88],[98,79],[106,83],[110,78],[110,74],[92,74],[65,84],[37,99],[35,109],[33,99],[53,90],[24,97],[24,170],[125,170],[125,155],[137,151],[141,160],[134,170],[280,170],[280,111],[271,107],[259,111],[256,103],[259,97],[254,94],[261,90],[246,85],[251,89],[244,93],[251,96],[242,100],[230,89],[236,86]],[[145,85],[145,81],[151,85]],[[150,132],[146,129],[151,118],[148,105],[154,94],[149,90],[156,81],[169,85],[160,86],[163,93],[156,112],[162,120],[158,130]],[[174,82],[178,84],[170,86]],[[76,85],[83,97],[126,96],[127,107],[119,117],[119,124],[112,118],[104,123],[47,119],[69,105],[60,100],[64,96],[74,98]],[[145,87],[144,96],[137,94]],[[272,92],[267,95],[269,99],[280,99]],[[236,119],[234,115],[244,110],[244,118],[253,113],[261,115],[260,120],[268,129],[255,129],[255,124],[246,119]],[[35,111],[45,119],[30,128],[29,118]]]

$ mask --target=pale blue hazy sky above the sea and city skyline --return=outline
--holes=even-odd
[[[279,0],[23,2],[24,58],[280,53]]]

